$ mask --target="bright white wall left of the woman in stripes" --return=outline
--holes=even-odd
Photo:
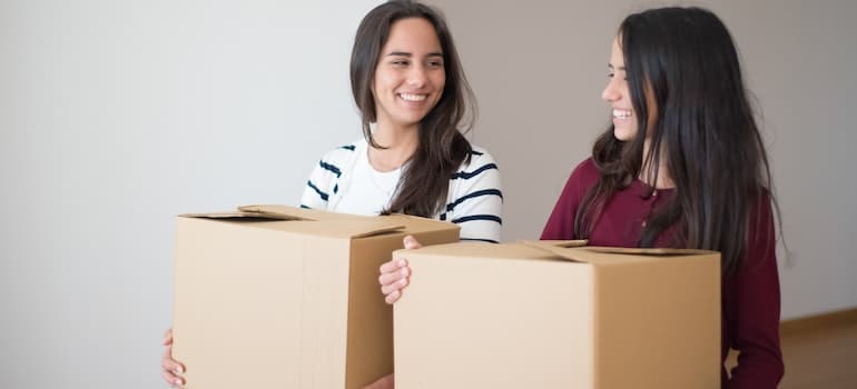
[[[0,388],[166,387],[174,215],[297,203],[377,2],[0,0]]]

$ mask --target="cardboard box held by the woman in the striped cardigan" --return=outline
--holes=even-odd
[[[393,371],[378,267],[459,227],[282,206],[178,217],[174,357],[186,388],[359,388]]]

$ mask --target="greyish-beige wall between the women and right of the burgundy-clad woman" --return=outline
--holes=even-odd
[[[535,238],[608,123],[610,41],[652,1],[435,0],[481,107],[474,138],[503,174],[504,239]],[[758,99],[782,208],[782,317],[857,307],[857,2],[708,0]]]

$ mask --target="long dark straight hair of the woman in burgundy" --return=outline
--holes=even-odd
[[[637,177],[657,182],[663,162],[674,197],[654,210],[639,246],[651,247],[678,223],[673,245],[720,251],[723,273],[735,273],[747,253],[751,212],[774,199],[732,38],[717,16],[700,8],[631,14],[618,37],[639,129],[623,142],[611,124],[595,141],[601,179],[583,199],[575,233],[585,238],[608,199]]]

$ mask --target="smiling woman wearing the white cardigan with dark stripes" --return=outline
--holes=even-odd
[[[364,137],[322,157],[301,206],[436,218],[461,226],[462,239],[498,242],[500,172],[462,134],[473,124],[475,101],[443,16],[407,0],[370,11],[355,37],[351,81]],[[418,243],[407,237],[404,246]],[[181,387],[170,331],[164,345],[164,379]],[[366,389],[392,381],[387,376]]]

